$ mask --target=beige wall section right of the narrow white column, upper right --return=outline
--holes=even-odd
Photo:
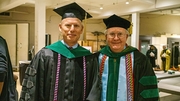
[[[140,34],[155,33],[180,34],[180,16],[141,14]]]

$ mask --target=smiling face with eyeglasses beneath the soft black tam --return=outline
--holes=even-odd
[[[121,27],[112,27],[107,29],[106,40],[112,52],[121,52],[128,38],[128,32],[126,29]]]

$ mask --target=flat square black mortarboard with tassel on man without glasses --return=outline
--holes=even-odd
[[[81,21],[86,18],[91,18],[92,16],[87,13],[83,8],[81,8],[77,3],[71,3],[59,8],[54,9],[56,13],[58,13],[62,19],[64,18],[78,18]]]

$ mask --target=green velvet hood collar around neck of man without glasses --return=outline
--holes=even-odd
[[[61,41],[58,41],[54,44],[46,46],[46,48],[51,49],[59,54],[62,54],[63,56],[67,58],[75,58],[75,57],[91,55],[91,52],[89,50],[81,46],[78,46],[75,49],[69,50]]]

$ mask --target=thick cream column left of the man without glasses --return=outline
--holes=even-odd
[[[44,0],[35,0],[35,53],[45,46],[46,5]]]

